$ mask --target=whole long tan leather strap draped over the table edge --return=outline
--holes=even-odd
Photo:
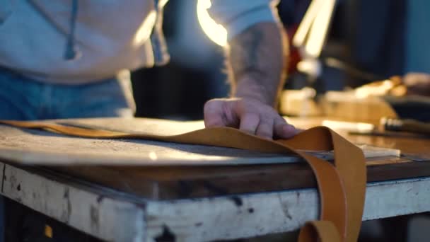
[[[23,128],[47,129],[61,134],[87,138],[153,139],[164,142],[205,144],[252,151],[298,154],[313,169],[320,192],[320,221],[303,226],[299,242],[352,242],[359,236],[366,190],[364,154],[327,127],[308,129],[291,139],[271,141],[229,127],[199,129],[174,136],[127,134],[105,130],[69,127],[47,122],[0,120],[0,123]],[[335,162],[319,159],[306,150],[334,150]]]

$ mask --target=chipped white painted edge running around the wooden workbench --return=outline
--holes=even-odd
[[[212,241],[293,231],[318,217],[315,189],[153,201],[0,163],[1,194],[105,241]],[[19,189],[18,189],[19,186]],[[430,211],[430,178],[369,183],[363,220]],[[121,193],[121,192],[119,192]]]

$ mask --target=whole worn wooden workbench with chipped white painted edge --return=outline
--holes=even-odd
[[[147,119],[72,121],[166,134],[202,127]],[[306,128],[321,119],[291,122]],[[339,132],[355,144],[406,155],[368,160],[364,220],[430,211],[430,139]],[[0,125],[0,161],[3,195],[108,241],[250,237],[298,229],[318,216],[315,179],[295,156],[81,139]]]

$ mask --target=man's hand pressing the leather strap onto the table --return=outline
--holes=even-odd
[[[288,139],[297,134],[293,125],[271,106],[252,98],[223,98],[209,100],[204,105],[206,127],[236,127],[266,139]]]

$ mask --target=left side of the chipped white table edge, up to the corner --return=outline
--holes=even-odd
[[[1,163],[3,164],[3,163]],[[144,241],[144,208],[5,165],[3,195],[104,241]],[[18,190],[18,185],[20,189]],[[127,224],[127,226],[118,226]]]

